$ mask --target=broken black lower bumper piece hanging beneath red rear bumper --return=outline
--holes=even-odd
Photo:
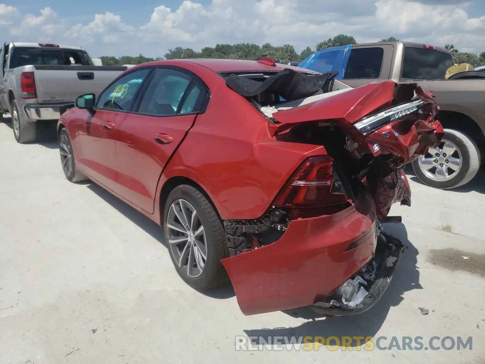
[[[361,314],[372,308],[388,288],[404,250],[404,244],[399,239],[381,232],[377,249],[379,248],[384,251],[381,254],[376,254],[367,265],[364,265],[354,276],[342,284],[336,293],[326,301],[314,303],[310,306],[311,309],[319,314],[329,316],[348,316]],[[372,274],[374,279],[370,287],[365,287],[370,282],[362,279],[363,272],[374,264],[378,265]],[[361,285],[361,283],[364,283],[364,285]],[[349,285],[356,287],[356,292],[350,299],[346,300],[344,295],[345,291],[348,291]]]

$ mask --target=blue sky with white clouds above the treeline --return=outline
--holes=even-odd
[[[16,0],[0,4],[3,41],[84,46],[91,56],[162,56],[177,46],[292,44],[339,33],[485,51],[485,0]],[[141,5],[143,4],[143,5]]]

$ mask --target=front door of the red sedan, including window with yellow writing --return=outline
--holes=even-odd
[[[116,140],[118,127],[129,115],[136,96],[151,68],[130,72],[113,82],[96,101],[93,115],[86,112],[85,123],[80,128],[81,157],[79,162],[97,182],[116,189]]]

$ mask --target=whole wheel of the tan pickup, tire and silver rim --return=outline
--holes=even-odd
[[[428,186],[450,189],[475,177],[481,163],[480,149],[464,132],[445,129],[441,143],[412,163],[414,173]]]

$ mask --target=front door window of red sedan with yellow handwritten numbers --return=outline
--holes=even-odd
[[[129,111],[151,69],[130,72],[110,85],[97,99],[98,109]]]

